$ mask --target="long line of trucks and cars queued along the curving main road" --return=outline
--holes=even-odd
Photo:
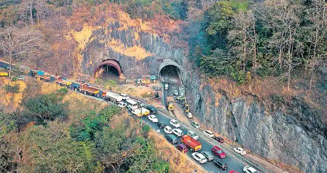
[[[5,75],[6,76],[6,75]],[[37,71],[32,72],[31,76],[39,79],[44,80],[46,82],[52,82],[51,81],[51,75],[47,74],[43,71]],[[23,80],[23,79],[22,79]],[[117,104],[121,108],[127,108],[133,115],[136,117],[142,117],[146,116],[151,122],[156,123],[156,125],[163,129],[163,131],[166,133],[165,138],[172,144],[177,144],[176,148],[183,152],[187,153],[188,150],[191,150],[193,153],[191,154],[191,157],[195,159],[200,164],[204,164],[209,161],[213,161],[213,164],[216,165],[218,168],[224,170],[228,168],[228,165],[223,161],[223,158],[226,157],[226,153],[219,148],[218,146],[213,146],[211,148],[211,152],[209,151],[199,151],[202,148],[202,144],[198,141],[199,136],[192,130],[188,130],[186,134],[184,134],[183,130],[181,130],[179,127],[181,126],[179,122],[175,119],[172,119],[170,121],[170,125],[173,126],[172,128],[170,125],[166,125],[165,122],[159,121],[157,117],[154,115],[158,111],[157,109],[152,105],[147,105],[144,107],[144,104],[140,101],[135,101],[131,99],[126,94],[119,94],[114,93],[111,91],[102,91],[100,88],[92,86],[88,83],[77,83],[72,82],[67,79],[65,79],[62,76],[55,76],[54,82],[60,86],[70,88],[75,91],[79,91],[80,93],[91,95],[98,98],[103,98],[104,100],[108,102],[112,102],[114,104]],[[165,86],[166,88],[166,86]],[[101,93],[101,94],[100,94]],[[173,100],[172,100],[173,99]],[[174,98],[171,97],[167,99],[167,102],[173,102],[171,105],[174,106]],[[168,109],[174,110],[174,107]],[[188,113],[188,112],[187,112]],[[199,128],[199,124],[192,121],[192,126],[195,128]],[[218,142],[222,143],[223,138],[219,136],[214,136],[214,134],[209,130],[204,130],[203,133],[207,135],[208,137],[212,137],[213,139],[217,140]],[[180,140],[178,140],[180,138]],[[179,143],[181,142],[181,143]],[[244,155],[246,154],[246,151],[240,147],[233,148],[233,151]],[[218,156],[220,159],[214,159],[214,155]],[[258,171],[251,167],[251,166],[245,166],[243,167],[243,171],[246,173],[258,173]],[[228,173],[238,173],[235,170],[230,170]]]

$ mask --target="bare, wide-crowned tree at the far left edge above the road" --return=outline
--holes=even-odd
[[[9,54],[9,76],[12,72],[12,63],[18,55],[40,53],[46,47],[42,34],[27,27],[22,29],[8,27],[0,32],[0,48]]]

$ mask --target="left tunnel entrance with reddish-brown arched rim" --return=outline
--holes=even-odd
[[[94,71],[94,78],[101,78],[102,80],[118,80],[125,78],[121,66],[118,61],[108,59],[104,60]]]

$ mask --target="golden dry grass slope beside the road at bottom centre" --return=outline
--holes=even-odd
[[[162,135],[157,135],[155,132],[150,131],[149,137],[151,137],[155,143],[155,147],[158,150],[158,154],[162,159],[165,159],[170,163],[171,172],[191,172],[191,170],[198,169],[198,172],[206,172],[196,163],[194,163],[184,153],[178,151],[174,146],[167,142]]]

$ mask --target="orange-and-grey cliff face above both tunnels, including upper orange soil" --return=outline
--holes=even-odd
[[[169,34],[159,35],[149,22],[130,19],[123,12],[117,14],[99,17],[103,21],[71,33],[78,43],[75,67],[79,72],[92,76],[107,59],[117,60],[127,78],[158,75],[160,64],[166,60],[182,65],[185,51],[174,46]]]

